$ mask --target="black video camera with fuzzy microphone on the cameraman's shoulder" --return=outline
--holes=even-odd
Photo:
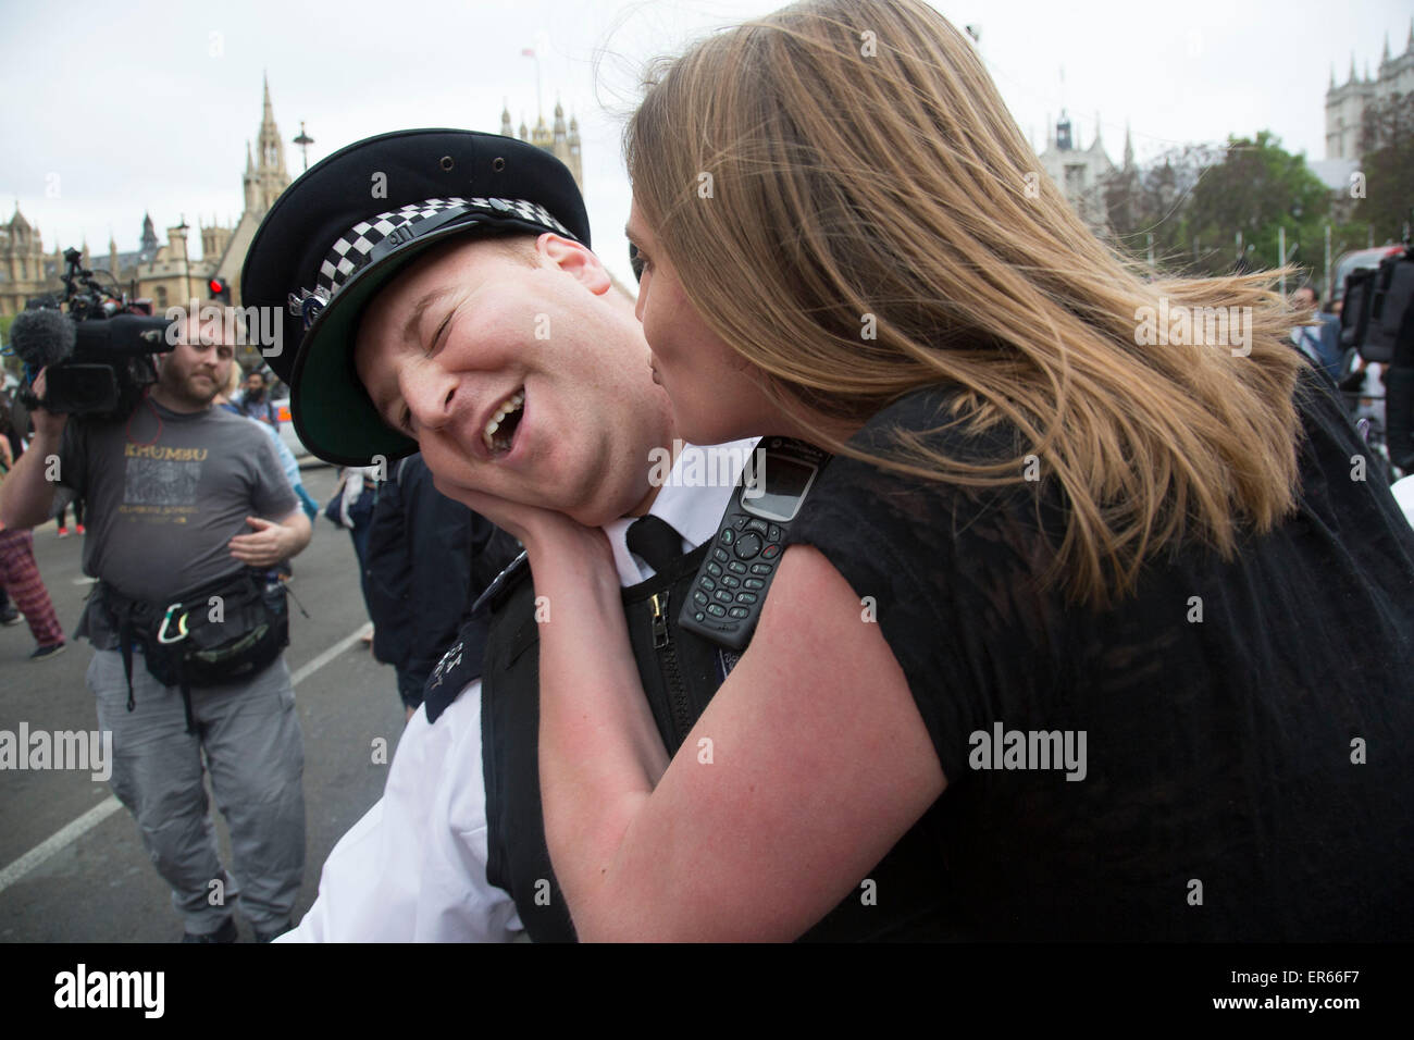
[[[13,352],[24,362],[18,398],[27,408],[120,419],[132,413],[143,389],[157,382],[150,355],[173,349],[167,318],[148,306],[109,291],[81,265],[78,249],[64,253],[62,294],[49,293],[25,303],[10,327]],[[112,275],[109,275],[112,277]],[[40,369],[45,396],[34,393]]]

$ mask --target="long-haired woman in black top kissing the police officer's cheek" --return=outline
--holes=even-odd
[[[912,0],[710,37],[626,156],[679,433],[836,458],[674,754],[602,536],[501,511],[581,938],[1414,937],[1414,532],[1268,282],[1137,276]]]

